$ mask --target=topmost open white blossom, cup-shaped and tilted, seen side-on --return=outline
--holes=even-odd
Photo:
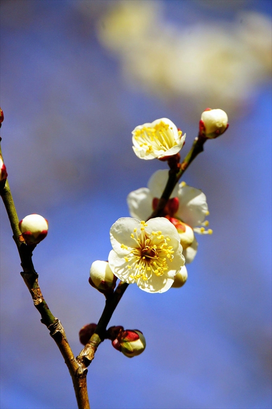
[[[137,126],[132,131],[133,150],[141,159],[160,159],[182,149],[186,134],[167,118]]]

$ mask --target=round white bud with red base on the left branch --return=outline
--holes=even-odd
[[[27,244],[38,244],[48,232],[48,221],[39,214],[30,214],[19,222],[19,229]]]

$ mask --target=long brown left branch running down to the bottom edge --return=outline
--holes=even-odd
[[[0,146],[0,153],[1,146]],[[50,335],[55,340],[64,361],[69,369],[70,375],[73,380],[75,389],[75,395],[79,409],[89,409],[89,400],[87,393],[86,375],[87,368],[78,362],[72,352],[72,349],[67,341],[64,328],[60,321],[52,314],[46,301],[44,300],[39,284],[38,274],[34,269],[32,262],[32,250],[33,246],[28,246],[21,236],[18,228],[19,219],[15,209],[14,201],[11,195],[8,180],[2,187],[0,195],[3,199],[5,208],[7,210],[8,218],[10,221],[11,229],[13,232],[13,239],[17,245],[18,253],[21,260],[21,266],[23,271],[21,276],[25,281],[26,286],[31,294],[34,306],[37,308],[41,315],[41,322],[45,324],[50,331]]]

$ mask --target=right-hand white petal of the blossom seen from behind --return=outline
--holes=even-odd
[[[182,187],[180,184],[177,197],[179,199],[179,206],[175,216],[191,227],[202,223],[208,211],[205,194],[199,189],[188,185]]]

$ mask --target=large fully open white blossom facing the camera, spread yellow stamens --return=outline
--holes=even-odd
[[[110,241],[111,270],[147,292],[167,291],[185,263],[177,230],[164,217],[147,222],[122,217],[111,226]]]

